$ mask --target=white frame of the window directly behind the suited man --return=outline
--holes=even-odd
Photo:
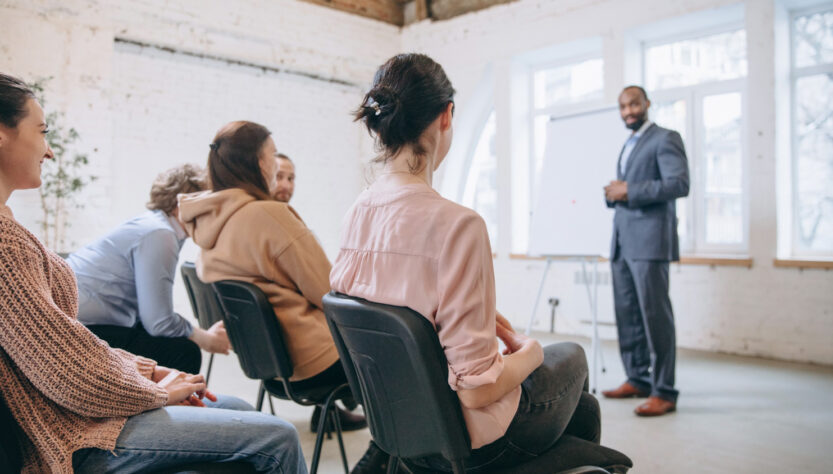
[[[641,42],[640,58],[642,66],[642,81],[647,82],[648,65],[646,52],[649,48],[662,46],[680,41],[693,40],[722,33],[745,30],[743,21],[731,21],[697,30],[686,31]],[[748,37],[747,37],[748,57]],[[748,59],[747,59],[748,61]],[[686,86],[672,87],[648,91],[652,104],[667,103],[683,100],[686,104],[686,156],[688,158],[691,187],[686,206],[686,241],[680,242],[680,252],[684,255],[745,255],[749,252],[749,153],[747,144],[747,78],[748,64],[745,75],[724,80],[706,81]],[[705,124],[703,123],[703,101],[706,97],[728,93],[739,93],[741,100],[741,117],[739,130],[739,145],[741,153],[741,241],[739,243],[709,243],[706,241],[706,197],[704,157],[701,152],[705,149]],[[650,115],[649,115],[650,116]],[[661,124],[660,124],[661,125]]]

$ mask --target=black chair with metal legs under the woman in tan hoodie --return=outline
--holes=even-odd
[[[349,395],[350,387],[345,383],[338,386],[315,387],[304,392],[293,389],[289,383],[294,373],[292,359],[286,349],[281,325],[263,291],[251,283],[232,280],[218,281],[212,286],[223,308],[231,346],[237,353],[246,376],[261,380],[270,395],[292,400],[299,405],[315,405],[321,408],[310,472],[315,474],[318,470],[321,445],[329,419],[338,437],[344,472],[348,473],[347,455],[341,437],[341,421],[335,401]],[[262,399],[258,400],[258,410],[261,404]]]

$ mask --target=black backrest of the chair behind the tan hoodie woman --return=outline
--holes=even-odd
[[[247,377],[288,381],[294,373],[283,330],[266,295],[244,281],[212,283],[223,308],[231,347]]]

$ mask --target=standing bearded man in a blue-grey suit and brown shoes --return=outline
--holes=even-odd
[[[633,130],[622,148],[617,180],[605,186],[616,209],[611,275],[619,351],[628,380],[603,391],[608,398],[648,397],[639,416],[659,416],[677,406],[676,336],[668,296],[669,262],[680,259],[675,200],[688,195],[688,161],[680,134],[648,119],[645,89],[628,86],[619,112]]]

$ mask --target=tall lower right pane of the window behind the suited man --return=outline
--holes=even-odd
[[[737,92],[703,99],[704,218],[708,243],[743,241],[741,107],[741,95]]]

